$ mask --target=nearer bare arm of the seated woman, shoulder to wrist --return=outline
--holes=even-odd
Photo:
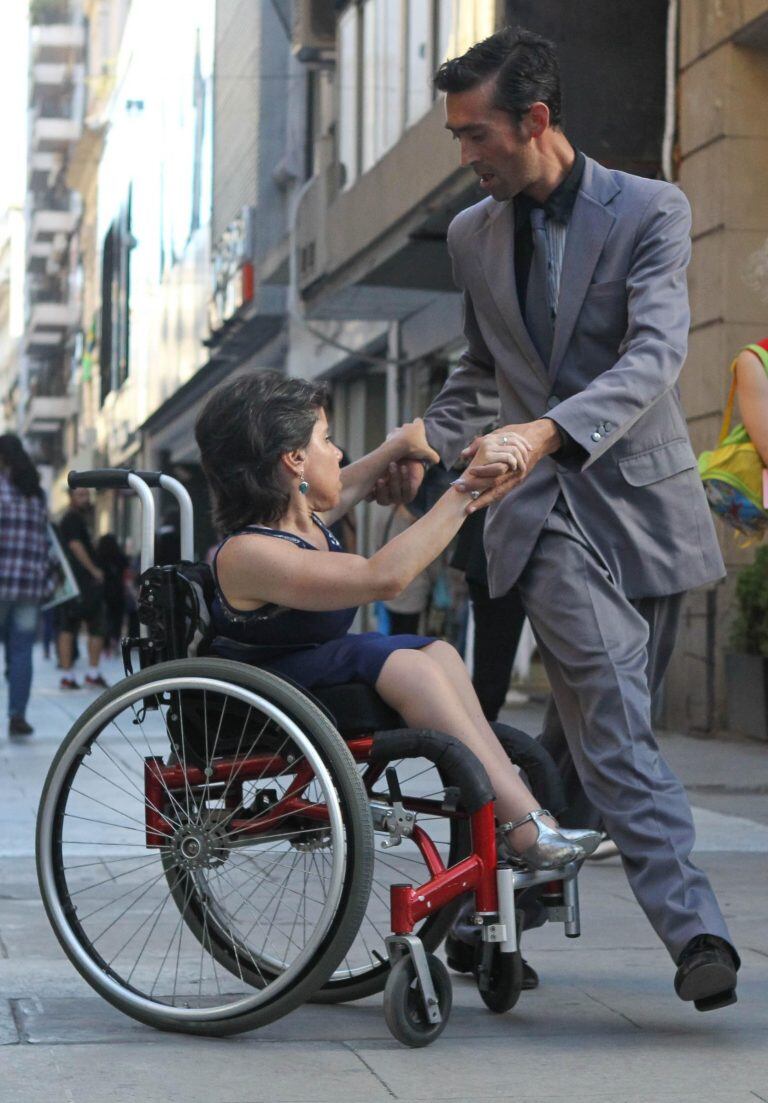
[[[309,552],[274,536],[230,539],[216,569],[236,609],[264,602],[323,612],[396,597],[435,559],[461,527],[468,496],[450,489],[370,559],[340,552]]]

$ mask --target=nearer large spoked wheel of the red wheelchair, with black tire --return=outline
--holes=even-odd
[[[38,817],[65,953],[160,1029],[234,1034],[310,998],[355,941],[372,866],[337,730],[292,686],[224,660],[162,663],[99,697]]]

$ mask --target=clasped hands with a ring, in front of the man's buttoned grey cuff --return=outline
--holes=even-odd
[[[468,506],[468,512],[500,501],[530,475],[544,456],[556,452],[561,445],[561,435],[551,418],[540,418],[524,425],[505,425],[488,437],[476,437],[461,453],[463,459],[471,462],[459,484],[470,493],[479,491]],[[499,453],[503,450],[516,458],[514,467],[508,461],[500,462]],[[524,467],[520,462],[522,457],[525,460]]]

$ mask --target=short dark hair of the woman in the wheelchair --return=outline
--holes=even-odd
[[[309,445],[327,408],[323,383],[276,372],[241,376],[214,392],[194,435],[220,533],[280,520],[290,500],[280,481],[280,457]]]

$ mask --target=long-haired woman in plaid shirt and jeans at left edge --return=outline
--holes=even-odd
[[[0,639],[6,649],[8,732],[31,736],[26,705],[40,603],[51,578],[51,543],[40,475],[12,432],[0,436]]]

